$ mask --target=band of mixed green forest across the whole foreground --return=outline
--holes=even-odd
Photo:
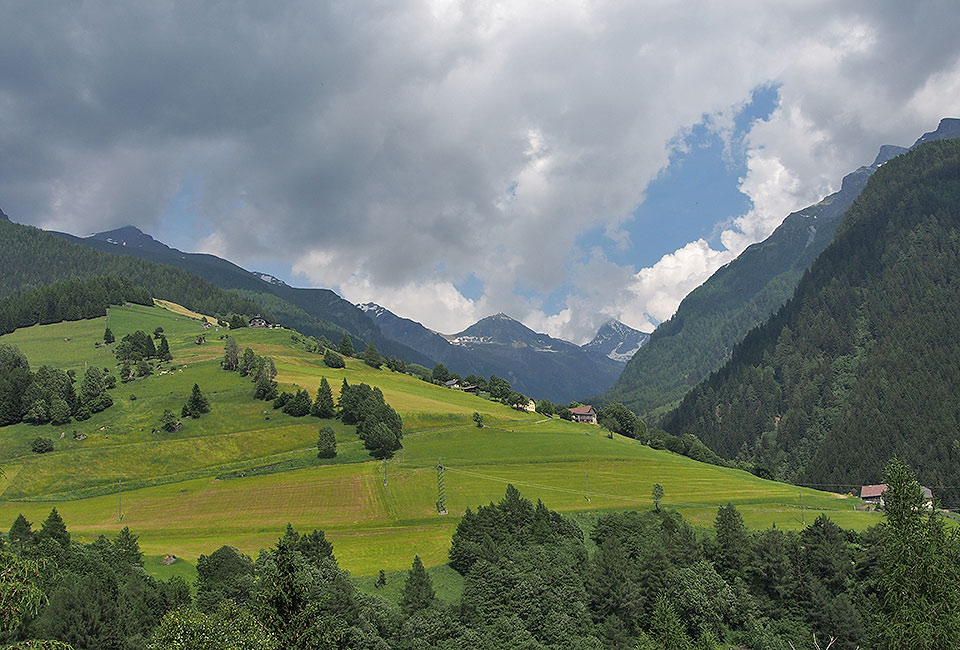
[[[674,511],[573,521],[508,486],[467,511],[450,547],[458,602],[419,557],[397,602],[359,592],[323,531],[291,526],[256,559],[223,546],[181,578],[143,570],[123,529],[72,541],[54,509],[17,518],[0,552],[0,642],[76,650],[946,649],[960,634],[960,540],[888,467],[886,521],[863,533],[826,516],[800,532],[749,531],[732,505],[712,529]],[[378,584],[385,575],[381,573]],[[922,606],[918,604],[922,603]],[[21,645],[23,644],[23,645]]]

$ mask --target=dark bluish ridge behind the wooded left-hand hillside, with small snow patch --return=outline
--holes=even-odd
[[[55,234],[104,253],[151,260],[189,271],[218,287],[237,291],[261,305],[281,324],[303,334],[326,336],[334,343],[349,335],[361,349],[368,341],[373,341],[384,355],[432,364],[430,358],[384,337],[363,312],[329,289],[298,289],[270,282],[262,278],[262,274],[251,273],[216,255],[185,253],[171,248],[133,226],[90,237]]]

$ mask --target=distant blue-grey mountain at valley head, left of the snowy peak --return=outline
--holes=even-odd
[[[488,316],[462,332],[443,336],[374,303],[360,308],[384,335],[436,359],[452,372],[497,375],[536,399],[563,403],[582,399],[612,386],[623,369],[623,363],[606,351],[534,332],[506,314]],[[611,345],[616,348],[612,341]]]

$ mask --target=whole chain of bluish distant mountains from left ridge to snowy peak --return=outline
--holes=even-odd
[[[304,334],[326,336],[334,343],[349,335],[357,346],[372,341],[385,356],[397,356],[407,362],[427,366],[442,362],[461,375],[495,374],[524,394],[557,402],[582,399],[598,387],[611,387],[626,360],[647,336],[613,321],[605,323],[597,337],[581,347],[538,334],[502,314],[482,319],[458,334],[442,336],[376,305],[355,306],[329,289],[291,287],[272,275],[247,271],[215,255],[172,248],[134,226],[88,237],[50,234],[68,247],[79,245],[106,254],[107,257],[98,258],[101,261],[117,256],[133,258],[158,264],[148,267],[153,273],[174,267],[181,273],[187,272],[184,277],[198,276],[197,280],[228,290],[224,296],[237,296],[238,304],[246,305],[244,313],[259,309]],[[44,241],[49,245],[48,240]],[[60,281],[74,275],[68,264],[57,262],[46,266],[63,267],[63,272],[49,278],[44,276],[43,281]],[[121,264],[118,268],[125,267]],[[11,285],[10,289],[29,288],[43,281],[25,281]],[[185,303],[190,302],[181,294],[178,297]],[[250,307],[254,303],[258,307]]]

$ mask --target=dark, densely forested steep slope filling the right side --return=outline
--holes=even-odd
[[[930,142],[873,175],[793,298],[664,427],[836,490],[896,455],[957,505],[958,277],[960,140]]]

